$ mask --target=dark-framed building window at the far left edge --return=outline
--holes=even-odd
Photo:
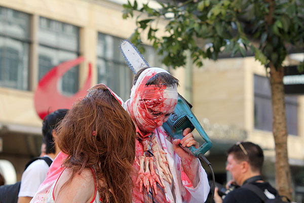
[[[0,7],[0,86],[28,90],[30,15]]]

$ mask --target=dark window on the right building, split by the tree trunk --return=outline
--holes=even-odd
[[[297,96],[285,96],[288,134],[297,135]],[[254,75],[254,128],[272,131],[271,86],[266,77]]]

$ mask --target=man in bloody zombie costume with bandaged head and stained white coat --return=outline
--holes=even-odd
[[[199,160],[178,146],[197,144],[192,133],[186,129],[182,141],[173,141],[161,127],[174,112],[178,93],[176,83],[163,83],[160,73],[169,74],[160,68],[142,71],[126,101],[137,125],[133,202],[205,201],[207,175]],[[150,84],[151,79],[156,84]]]

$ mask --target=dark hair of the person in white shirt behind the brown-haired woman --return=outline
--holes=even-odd
[[[48,114],[42,123],[42,135],[43,143],[46,144],[46,154],[55,154],[55,143],[53,139],[53,130],[58,126],[60,121],[64,118],[68,109],[58,109],[50,114]]]

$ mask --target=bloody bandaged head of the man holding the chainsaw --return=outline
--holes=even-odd
[[[177,104],[176,85],[170,87],[145,85],[151,77],[160,72],[166,71],[159,68],[143,71],[131,90],[128,109],[138,128],[143,132],[153,132],[157,127],[162,126],[170,114],[174,113]]]

